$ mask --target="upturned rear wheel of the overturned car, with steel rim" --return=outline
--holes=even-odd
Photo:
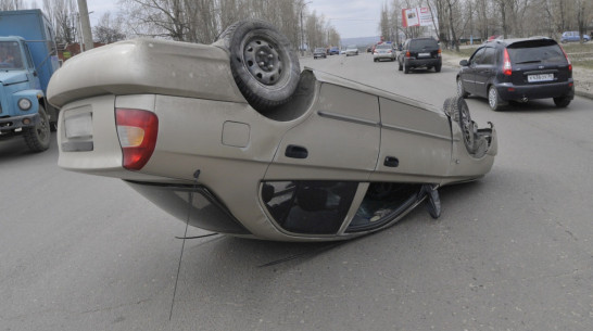
[[[272,24],[243,20],[218,38],[230,53],[230,69],[239,90],[257,111],[283,104],[300,80],[299,58],[290,41]]]

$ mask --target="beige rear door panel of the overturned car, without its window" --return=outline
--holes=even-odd
[[[368,180],[380,144],[377,98],[323,82],[314,112],[282,137],[265,179]]]

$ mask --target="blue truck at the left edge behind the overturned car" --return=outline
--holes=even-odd
[[[22,136],[34,152],[49,148],[58,110],[46,91],[59,67],[53,28],[40,10],[0,12],[0,140]]]

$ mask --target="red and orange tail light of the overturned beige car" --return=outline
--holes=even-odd
[[[156,145],[159,117],[142,110],[115,110],[117,136],[124,153],[124,168],[140,170]]]

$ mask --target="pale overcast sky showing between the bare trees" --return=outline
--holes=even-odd
[[[308,1],[305,1],[308,2]],[[373,37],[379,35],[381,0],[313,0],[306,4],[308,12],[324,14],[342,38]],[[91,24],[103,13],[118,12],[117,0],[87,0]]]

